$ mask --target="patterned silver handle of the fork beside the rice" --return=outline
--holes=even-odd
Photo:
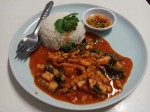
[[[50,11],[51,11],[51,9],[52,9],[53,4],[54,4],[53,1],[50,1],[50,2],[48,2],[48,3],[46,4],[46,6],[45,6],[45,8],[44,8],[44,10],[43,10],[43,12],[42,12],[42,15],[41,15],[41,17],[40,17],[40,19],[39,19],[39,21],[38,21],[36,27],[35,27],[35,30],[34,30],[34,32],[33,32],[34,34],[37,34],[37,33],[38,33],[38,30],[39,30],[39,28],[40,28],[40,23],[42,22],[42,20],[44,20],[44,19],[49,15],[49,13],[50,13]]]

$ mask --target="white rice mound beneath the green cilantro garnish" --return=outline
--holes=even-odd
[[[74,42],[79,44],[85,38],[85,28],[81,21],[78,22],[78,26],[75,31],[70,33],[59,33],[55,30],[55,22],[57,19],[62,19],[64,16],[70,13],[54,13],[48,16],[40,26],[39,36],[42,40],[42,43],[47,48],[52,50],[59,50],[60,47],[65,45],[68,42]]]

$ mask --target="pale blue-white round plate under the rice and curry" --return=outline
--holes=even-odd
[[[54,7],[51,13],[64,12],[68,10],[70,12],[78,12],[79,18],[81,19],[83,12],[93,7],[97,6],[88,4],[67,4]],[[12,38],[9,49],[9,63],[14,77],[28,93],[30,93],[40,101],[64,109],[71,109],[71,110],[98,109],[112,105],[122,100],[129,93],[131,93],[141,82],[141,80],[144,77],[148,61],[147,61],[146,46],[140,33],[127,19],[125,19],[123,16],[117,13],[115,14],[118,20],[116,25],[112,28],[112,30],[100,32],[97,34],[103,36],[110,43],[110,45],[115,51],[117,51],[119,54],[123,56],[131,58],[133,61],[133,69],[130,78],[124,85],[124,89],[120,94],[106,101],[95,104],[74,105],[71,103],[56,100],[48,96],[35,86],[33,77],[29,69],[29,59],[23,62],[15,59],[15,56],[19,41],[24,36],[33,31],[41,13],[33,16],[26,23],[24,23]],[[35,94],[35,92],[37,92],[37,94]]]

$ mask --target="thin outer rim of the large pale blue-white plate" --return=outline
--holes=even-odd
[[[57,6],[54,6],[54,8],[56,9],[56,8],[59,8],[59,7],[64,7],[64,6],[68,6],[68,5],[88,5],[88,6],[90,6],[90,7],[101,7],[101,6],[99,6],[99,5],[93,5],[93,4],[85,4],[85,3],[71,3],[71,4],[62,4],[62,5],[57,5]],[[111,10],[111,9],[110,9]],[[134,89],[136,89],[137,87],[138,87],[138,85],[140,84],[140,82],[143,80],[143,78],[144,78],[144,76],[145,76],[145,73],[146,73],[146,70],[147,70],[147,66],[148,66],[148,52],[147,52],[147,46],[146,46],[146,44],[145,44],[145,41],[144,41],[144,39],[143,39],[143,36],[141,35],[141,33],[138,31],[138,29],[127,19],[127,18],[125,18],[125,17],[123,17],[121,14],[119,14],[118,12],[115,12],[115,11],[113,11],[115,14],[117,14],[117,15],[119,15],[119,16],[121,16],[122,18],[124,18],[126,21],[128,21],[132,26],[133,26],[133,28],[136,30],[136,32],[138,33],[138,35],[140,35],[140,37],[141,37],[141,39],[142,39],[142,42],[144,43],[143,45],[144,45],[144,47],[145,47],[145,53],[146,53],[146,63],[145,63],[145,69],[144,69],[144,71],[143,71],[143,73],[142,73],[142,77],[140,78],[140,80],[138,81],[138,83],[136,83],[136,85],[134,86],[134,88],[132,89],[132,90],[130,90],[124,97],[122,97],[121,99],[118,99],[118,100],[116,100],[115,102],[112,102],[112,103],[109,103],[108,105],[106,105],[106,106],[104,106],[104,107],[107,107],[107,106],[110,106],[110,105],[112,105],[112,104],[114,104],[114,103],[117,103],[117,102],[119,102],[120,100],[122,100],[122,99],[124,99],[125,97],[127,97],[130,93],[132,93],[133,92],[133,90]],[[14,34],[14,36],[13,36],[13,38],[11,39],[11,42],[10,42],[10,47],[12,46],[12,42],[13,42],[13,40],[15,39],[15,36],[16,36],[16,34],[20,31],[20,29],[26,24],[26,23],[29,23],[29,22],[31,22],[31,20],[33,19],[33,18],[36,18],[39,14],[41,14],[41,12],[39,12],[39,13],[37,13],[37,14],[35,14],[35,15],[33,15],[32,17],[30,17],[28,20],[26,20],[26,22],[24,23],[24,24],[22,24],[21,25],[21,27],[20,28],[18,28],[18,30],[15,32],[15,34]],[[27,87],[25,87],[25,85],[23,85],[23,84],[21,84],[21,82],[19,81],[19,79],[16,77],[16,75],[14,74],[15,72],[14,72],[14,70],[12,69],[12,63],[11,63],[11,58],[10,58],[10,53],[11,53],[11,48],[9,47],[9,56],[8,56],[8,60],[9,60],[9,65],[10,65],[10,69],[11,69],[11,71],[12,71],[12,74],[13,74],[13,76],[15,77],[15,79],[17,80],[17,82],[21,85],[21,87],[23,87],[23,89],[24,90],[26,90],[28,93],[30,93],[30,95],[32,95],[33,97],[35,97],[35,98],[37,98],[38,100],[40,100],[40,101],[42,101],[42,102],[44,102],[44,103],[47,103],[47,104],[49,104],[49,105],[52,105],[52,106],[55,106],[55,107],[59,107],[59,108],[63,108],[63,109],[68,109],[68,110],[93,110],[93,109],[99,109],[99,108],[104,108],[104,107],[94,107],[93,106],[93,104],[88,104],[88,105],[74,105],[73,104],[73,106],[75,106],[75,107],[77,107],[77,106],[79,106],[79,107],[81,107],[81,108],[70,108],[70,107],[63,107],[63,106],[58,106],[58,105],[54,105],[54,104],[50,104],[50,103],[48,103],[48,102],[45,102],[45,101],[43,101],[41,98],[38,98],[38,97],[36,97],[36,95],[34,95],[32,92],[30,92],[30,90],[27,88]],[[46,94],[46,93],[45,93]],[[57,99],[56,99],[57,100]],[[61,102],[61,101],[60,101]],[[66,103],[66,102],[63,102],[63,103]],[[101,103],[101,102],[100,102]],[[90,105],[92,105],[92,107],[90,107],[90,108],[88,108],[88,107],[86,107],[86,106],[90,106]],[[84,107],[85,106],[85,107]],[[83,108],[84,107],[84,108]]]

